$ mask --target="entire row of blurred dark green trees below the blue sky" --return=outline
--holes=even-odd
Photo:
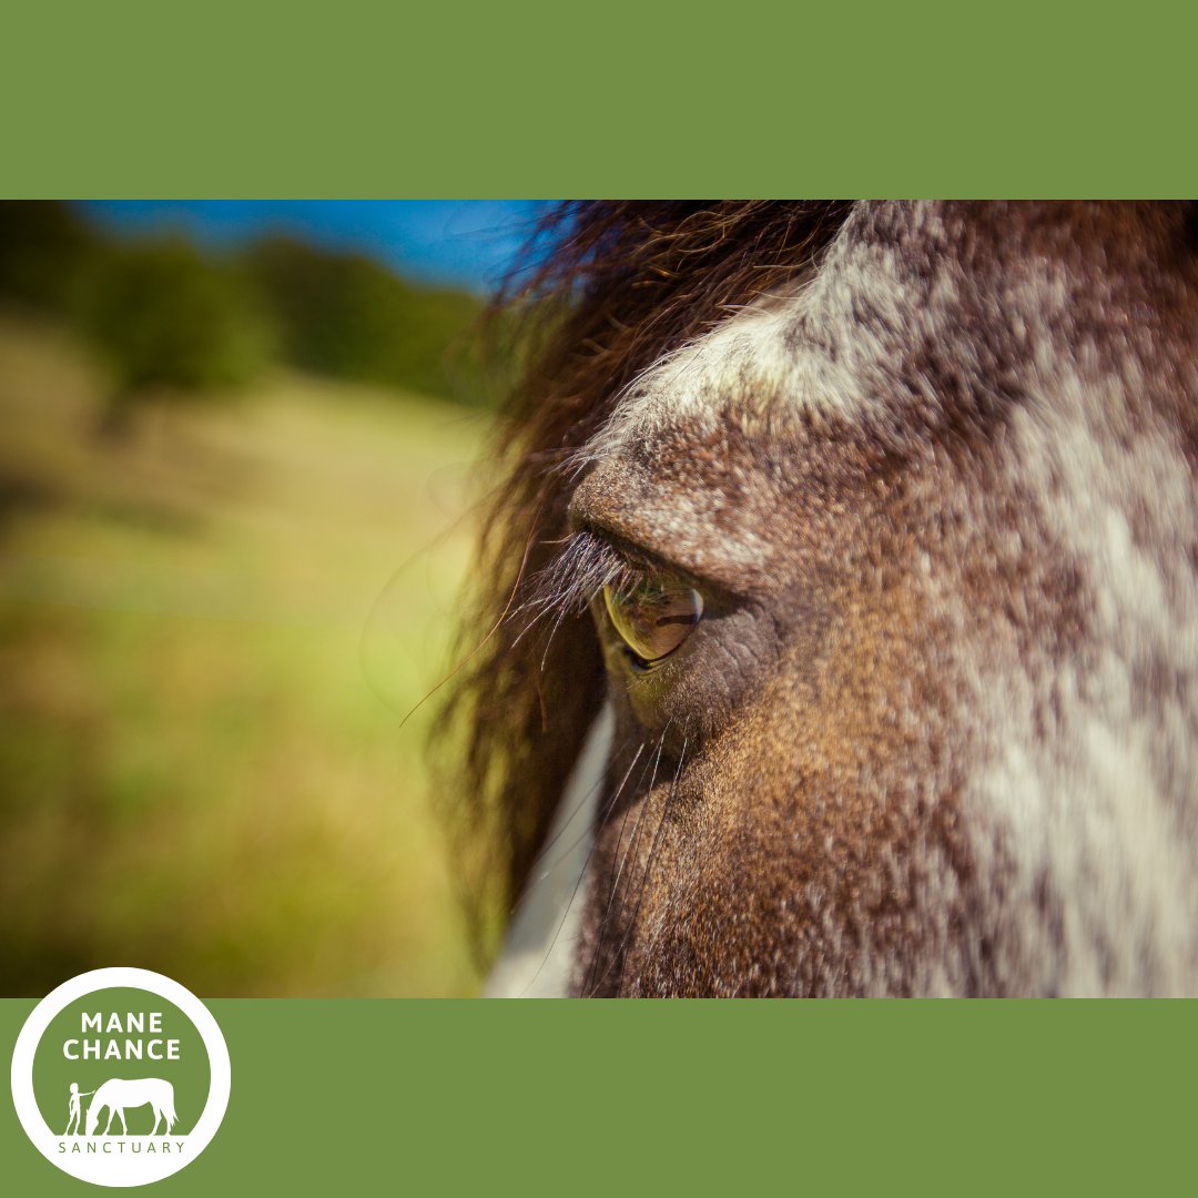
[[[0,201],[0,301],[89,337],[116,381],[110,429],[150,391],[230,391],[272,353],[302,370],[472,405],[497,389],[474,335],[482,301],[289,237],[222,260],[182,237],[115,240],[66,204]]]

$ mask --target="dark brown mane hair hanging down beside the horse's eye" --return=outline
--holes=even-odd
[[[496,313],[520,317],[527,364],[491,446],[462,668],[438,724],[476,946],[489,954],[544,841],[605,691],[589,616],[526,631],[531,580],[565,531],[563,467],[621,391],[730,309],[811,266],[848,210],[835,201],[594,201],[559,206]],[[551,247],[547,258],[536,253]],[[504,321],[500,321],[502,326]],[[464,748],[462,748],[464,746]]]

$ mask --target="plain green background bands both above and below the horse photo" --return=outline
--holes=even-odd
[[[0,194],[1179,195],[1194,24],[58,0],[5,17]],[[211,1005],[229,1113],[158,1192],[1192,1186],[1190,1002]],[[83,1192],[11,1103],[0,1161]]]

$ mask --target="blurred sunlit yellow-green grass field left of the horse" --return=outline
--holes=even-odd
[[[97,432],[0,317],[0,993],[134,964],[219,996],[477,978],[423,768],[485,418],[279,376]]]

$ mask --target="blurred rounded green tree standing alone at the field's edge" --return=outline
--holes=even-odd
[[[114,416],[147,391],[230,391],[270,363],[272,323],[252,280],[181,238],[109,247],[87,328],[116,375]]]

